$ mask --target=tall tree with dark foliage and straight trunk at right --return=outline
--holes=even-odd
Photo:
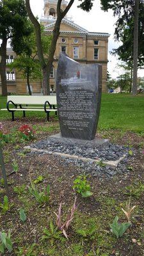
[[[135,95],[137,92],[137,72],[138,72],[138,13],[141,13],[139,22],[140,34],[143,33],[143,0],[100,0],[102,9],[108,11],[112,9],[114,16],[117,16],[115,38],[116,40],[122,39],[122,60],[126,59],[130,54],[133,66],[134,80],[132,84],[132,93]],[[127,28],[128,33],[127,33]],[[139,35],[140,35],[139,34]],[[124,46],[124,48],[123,48]],[[129,60],[129,58],[127,58]]]

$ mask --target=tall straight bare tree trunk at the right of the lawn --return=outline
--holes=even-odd
[[[139,0],[135,0],[134,5],[134,49],[133,49],[133,83],[132,95],[137,94],[138,88],[138,17]]]

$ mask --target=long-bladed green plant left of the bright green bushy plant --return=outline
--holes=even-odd
[[[49,203],[49,194],[50,194],[50,186],[47,185],[43,191],[38,191],[36,189],[35,184],[31,182],[31,187],[29,187],[29,192],[33,195],[40,205],[48,204]]]

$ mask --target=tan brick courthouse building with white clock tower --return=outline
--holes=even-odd
[[[44,0],[44,17],[40,22],[45,26],[45,35],[51,35],[56,21],[57,0]],[[66,1],[62,1],[61,8],[65,9]],[[60,36],[56,45],[54,61],[51,69],[50,86],[51,92],[56,91],[55,77],[58,66],[58,56],[60,52],[65,52],[79,63],[99,63],[102,65],[102,90],[106,92],[106,77],[108,64],[108,33],[89,32],[81,26],[75,24],[67,16],[62,20],[60,26]],[[12,49],[7,49],[7,63],[16,58]],[[26,94],[28,88],[26,80],[22,79],[21,74],[15,70],[6,70],[6,79],[9,93]],[[42,81],[31,82],[33,93],[42,93]],[[1,93],[1,81],[0,81]]]

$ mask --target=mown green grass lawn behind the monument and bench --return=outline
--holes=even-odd
[[[6,108],[6,97],[0,97],[0,108]],[[45,113],[28,112],[26,116],[46,118]],[[22,117],[22,113],[15,113]],[[11,113],[0,111],[0,120],[10,119]],[[99,129],[122,129],[144,131],[144,95],[133,97],[128,94],[102,94]]]

